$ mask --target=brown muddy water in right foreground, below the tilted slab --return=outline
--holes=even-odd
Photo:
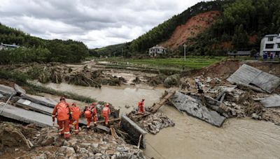
[[[147,158],[279,158],[280,127],[253,119],[229,119],[222,128],[164,106],[174,128],[146,135]]]

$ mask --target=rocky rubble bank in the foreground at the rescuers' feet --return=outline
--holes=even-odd
[[[38,129],[3,122],[0,141],[3,158],[144,158],[137,146],[86,128],[65,140],[54,127]]]

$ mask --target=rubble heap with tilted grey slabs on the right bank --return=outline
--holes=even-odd
[[[195,78],[200,79],[204,93],[197,93]],[[244,64],[226,80],[200,75],[185,82],[186,89],[177,91],[169,102],[179,111],[218,127],[231,117],[280,123],[276,108],[280,107],[280,96],[269,95],[279,87],[279,77]]]

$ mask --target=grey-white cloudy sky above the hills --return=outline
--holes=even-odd
[[[1,0],[0,22],[32,36],[96,48],[129,42],[200,1]]]

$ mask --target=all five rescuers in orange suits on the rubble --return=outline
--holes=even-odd
[[[141,102],[138,103],[139,107],[139,114],[144,114],[144,100],[142,99]],[[61,97],[59,103],[55,105],[55,108],[52,112],[52,122],[55,124],[55,117],[57,118],[57,125],[59,126],[58,133],[59,135],[63,135],[65,139],[71,136],[70,128],[73,127],[73,132],[77,135],[79,128],[78,128],[78,120],[80,118],[80,108],[73,103],[71,106],[69,103],[66,103],[66,99]],[[83,114],[87,119],[87,128],[90,128],[90,123],[92,122],[94,126],[97,124],[98,116],[97,116],[97,104],[92,103],[90,106],[86,106],[83,110]],[[106,103],[102,109],[102,116],[105,121],[105,125],[108,126],[109,116],[111,115],[111,110],[109,108],[109,104]]]

